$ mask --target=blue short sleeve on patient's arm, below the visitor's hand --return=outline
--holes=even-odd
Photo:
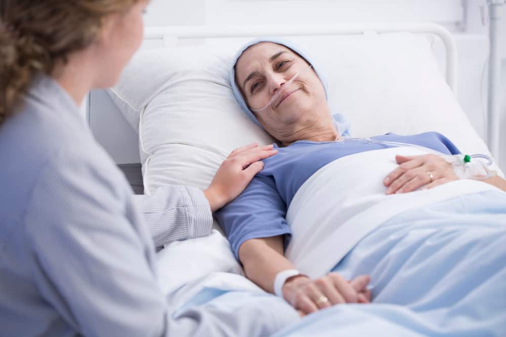
[[[239,260],[239,247],[252,238],[284,235],[288,245],[291,231],[286,223],[286,204],[279,195],[274,178],[257,175],[242,194],[215,213],[225,231],[232,251]]]

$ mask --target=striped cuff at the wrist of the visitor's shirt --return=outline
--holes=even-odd
[[[195,187],[185,186],[185,188],[188,192],[189,238],[209,235],[213,228],[213,213],[204,192]]]

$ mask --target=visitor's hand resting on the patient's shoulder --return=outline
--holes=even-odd
[[[213,181],[204,190],[214,212],[241,194],[251,179],[264,168],[262,159],[278,153],[272,145],[259,147],[257,142],[235,149],[223,161]]]

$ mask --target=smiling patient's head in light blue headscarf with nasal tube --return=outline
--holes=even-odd
[[[273,95],[282,94],[266,109],[255,112],[264,128],[277,139],[301,128],[309,127],[319,115],[328,114],[325,91],[313,69],[299,55],[287,47],[260,42],[249,47],[235,66],[237,85],[248,106],[262,109]],[[297,78],[284,86],[295,74]]]

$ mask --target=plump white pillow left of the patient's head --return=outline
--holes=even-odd
[[[138,53],[109,92],[134,127],[139,122],[132,116],[137,112],[139,119],[148,103],[139,125],[146,194],[166,184],[206,188],[232,150],[274,141],[235,102],[228,81],[235,49],[187,46]],[[135,110],[125,110],[123,100]]]

